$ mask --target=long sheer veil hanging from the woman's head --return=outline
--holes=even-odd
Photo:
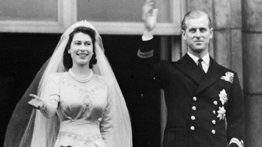
[[[42,98],[41,96],[45,93],[47,76],[54,72],[65,71],[63,52],[69,40],[69,34],[80,26],[91,28],[96,32],[97,64],[93,65],[93,72],[114,82],[114,102],[110,104],[113,108],[114,147],[132,147],[131,122],[125,100],[112,68],[105,57],[102,38],[94,26],[86,20],[76,22],[62,34],[52,57],[38,71],[34,81],[17,103],[7,127],[4,147],[52,147],[54,145],[59,129],[57,115],[49,119],[45,118],[39,110],[35,110],[27,104],[30,99],[28,95],[30,93],[37,94]]]

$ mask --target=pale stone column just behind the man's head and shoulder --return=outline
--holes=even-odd
[[[214,58],[243,83],[241,0],[213,0]]]

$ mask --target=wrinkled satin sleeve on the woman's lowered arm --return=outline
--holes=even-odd
[[[112,117],[114,113],[114,107],[116,105],[114,105],[112,98],[113,91],[110,87],[112,87],[112,85],[108,84],[106,107],[103,113],[102,121],[100,123],[100,132],[102,134],[103,140],[105,141],[106,147],[114,147],[114,125]]]

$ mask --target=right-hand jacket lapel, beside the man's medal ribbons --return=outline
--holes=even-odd
[[[218,79],[220,79],[220,77],[223,76],[224,74],[225,74],[225,69],[222,68],[222,66],[218,65],[210,57],[210,66],[209,66],[208,72],[206,75],[204,75],[202,81],[200,82],[200,85],[197,88],[195,95],[205,90],[213,82],[216,82]]]

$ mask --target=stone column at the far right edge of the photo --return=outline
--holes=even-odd
[[[242,0],[245,147],[262,147],[262,0]]]

